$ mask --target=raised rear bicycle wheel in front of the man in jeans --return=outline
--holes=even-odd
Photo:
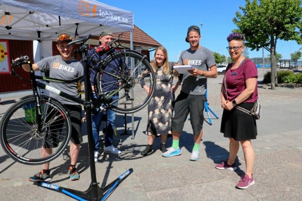
[[[105,104],[117,113],[135,113],[144,108],[154,93],[155,76],[148,59],[135,51],[122,50],[109,55],[101,67],[103,72],[98,72],[95,77],[97,92],[105,97]],[[118,68],[118,69],[117,69]],[[137,76],[146,70],[144,81],[149,92],[139,84]],[[115,81],[110,78],[115,74]],[[110,98],[118,94],[116,102]]]

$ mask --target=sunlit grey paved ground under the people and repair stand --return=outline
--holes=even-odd
[[[259,80],[264,70],[259,69]],[[235,188],[240,176],[244,174],[245,163],[240,149],[237,164],[239,170],[217,170],[218,163],[228,158],[228,139],[219,133],[220,108],[219,91],[222,75],[208,79],[209,107],[219,117],[212,119],[212,126],[204,123],[203,141],[200,146],[200,159],[189,160],[193,148],[193,135],[189,121],[181,135],[182,155],[164,158],[159,149],[159,139],[155,151],[142,157],[147,137],[146,108],[134,114],[135,139],[124,132],[123,115],[118,115],[118,136],[122,146],[120,156],[102,154],[96,163],[96,173],[100,186],[105,186],[129,169],[134,169],[111,194],[108,200],[302,200],[302,88],[277,87],[259,84],[258,91],[262,105],[262,118],[257,121],[258,137],[253,141],[255,149],[255,185],[246,190]],[[0,118],[8,108],[27,92],[0,93],[3,105]],[[210,114],[213,118],[213,115]],[[131,117],[127,117],[127,127],[131,127]],[[208,120],[206,120],[208,121]],[[130,133],[130,129],[128,129]],[[51,183],[64,187],[86,190],[90,185],[90,168],[87,151],[87,135],[84,136],[78,168],[81,179],[70,181],[66,174],[69,164],[67,153],[51,162]],[[118,141],[116,141],[118,144]],[[167,145],[171,146],[168,138]],[[61,193],[33,185],[27,180],[37,173],[40,166],[27,166],[14,162],[0,148],[0,200],[72,200]]]

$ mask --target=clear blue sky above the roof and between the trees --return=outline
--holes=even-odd
[[[181,51],[189,48],[185,37],[191,25],[200,27],[202,46],[229,56],[225,48],[228,46],[226,37],[237,28],[232,21],[235,13],[240,11],[240,6],[245,6],[244,0],[99,0],[99,2],[132,12],[134,24],[167,48],[169,61],[177,61]],[[293,53],[301,47],[295,41],[277,41],[276,50],[284,59],[289,59],[290,52]],[[268,54],[269,52],[264,50],[264,57]],[[262,50],[249,51],[249,57],[262,57]]]

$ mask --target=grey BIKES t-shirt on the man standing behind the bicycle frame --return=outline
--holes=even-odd
[[[83,65],[77,60],[64,61],[61,59],[60,55],[47,57],[36,63],[41,70],[41,72],[45,72],[49,70],[49,77],[57,78],[57,79],[65,79],[70,80],[77,77],[80,77],[84,74]],[[78,83],[56,83],[50,82],[50,86],[68,93],[69,95],[73,95],[75,97],[79,97],[78,93]],[[59,96],[56,93],[50,92],[50,97],[53,97],[62,104],[68,105],[79,105],[74,103],[72,100],[68,100],[62,96]]]

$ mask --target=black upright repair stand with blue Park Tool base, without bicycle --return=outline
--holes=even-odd
[[[81,39],[80,39],[81,40]],[[90,161],[90,173],[91,173],[91,184],[89,188],[85,191],[79,191],[74,189],[69,189],[65,187],[61,187],[58,185],[54,185],[51,183],[46,183],[42,181],[36,182],[38,186],[55,190],[61,193],[64,193],[74,199],[77,200],[105,200],[108,198],[108,196],[113,192],[113,190],[119,185],[120,182],[122,182],[129,174],[133,172],[133,169],[130,168],[124,173],[122,173],[119,177],[117,177],[115,180],[113,180],[111,183],[109,183],[107,186],[101,188],[97,182],[96,177],[96,166],[94,162],[94,139],[92,136],[92,122],[91,122],[91,100],[90,100],[90,93],[91,93],[91,87],[88,87],[90,84],[89,80],[89,68],[86,66],[87,61],[87,55],[86,52],[88,50],[87,45],[81,46],[81,55],[82,55],[82,64],[84,67],[84,83],[85,83],[85,111],[86,111],[86,120],[87,120],[87,135],[88,135],[88,150],[89,150],[89,161]]]

